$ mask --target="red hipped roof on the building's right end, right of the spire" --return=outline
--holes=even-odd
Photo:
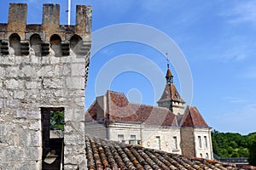
[[[196,107],[188,106],[181,122],[181,127],[208,127]]]

